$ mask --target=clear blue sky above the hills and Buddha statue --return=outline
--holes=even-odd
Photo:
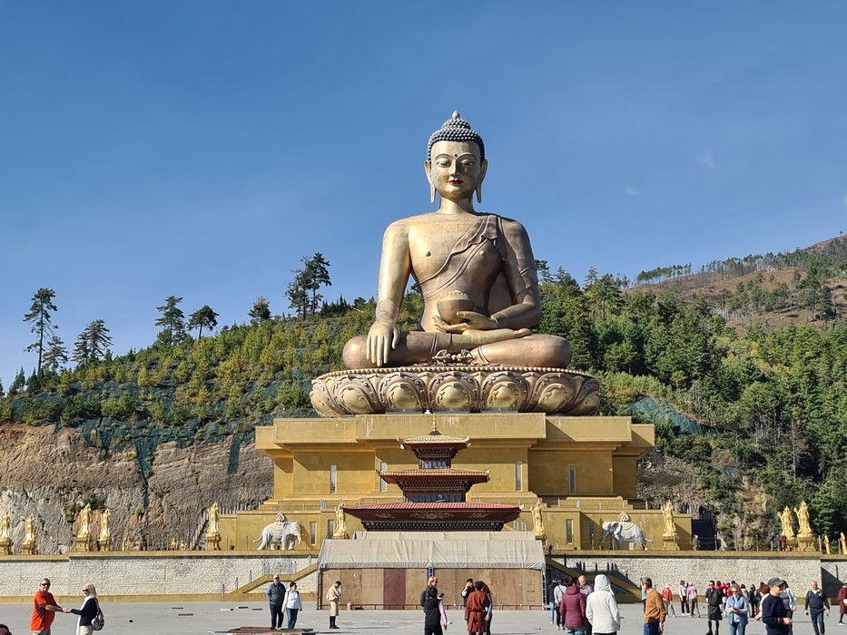
[[[53,288],[69,349],[153,342],[163,299],[243,322],[300,257],[376,292],[382,230],[432,210],[458,109],[478,210],[577,279],[805,247],[847,230],[842,2],[5,2],[0,378]]]

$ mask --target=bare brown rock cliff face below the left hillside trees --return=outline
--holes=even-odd
[[[202,540],[203,513],[212,503],[226,512],[255,509],[271,497],[271,459],[244,442],[235,461],[233,443],[235,437],[185,448],[158,445],[145,482],[132,446],[104,454],[75,429],[0,427],[0,514],[11,516],[15,553],[28,516],[35,519],[39,552],[73,551],[85,503],[94,509],[94,538],[98,510],[111,510],[113,550],[167,549],[172,540],[192,547]]]

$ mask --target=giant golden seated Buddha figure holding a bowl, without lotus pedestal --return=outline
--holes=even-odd
[[[367,337],[344,348],[345,366],[408,366],[439,351],[467,350],[477,364],[566,368],[567,340],[529,331],[541,318],[541,298],[527,230],[474,210],[488,161],[482,138],[458,112],[429,137],[424,170],[430,200],[440,197],[438,211],[389,225],[376,320]],[[401,333],[397,318],[409,276],[423,295],[421,330]]]

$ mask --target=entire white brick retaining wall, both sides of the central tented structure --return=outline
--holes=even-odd
[[[271,554],[272,553],[272,554]],[[799,594],[810,581],[822,582],[834,597],[847,581],[847,559],[796,552],[570,552],[556,556],[566,567],[587,573],[609,573],[635,585],[644,577],[655,586],[694,581],[702,592],[709,580],[751,584],[779,575]],[[283,578],[315,563],[314,556],[284,552],[111,552],[56,556],[0,557],[0,602],[29,601],[38,582],[47,577],[57,598],[80,597],[92,582],[104,597],[123,600],[163,600],[163,597],[221,597],[223,593],[280,573]],[[317,591],[317,577],[298,581],[305,594]],[[263,589],[254,594],[261,600]]]

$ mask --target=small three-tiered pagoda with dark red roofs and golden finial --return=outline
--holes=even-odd
[[[499,532],[514,521],[520,508],[496,503],[468,503],[466,495],[478,483],[488,482],[488,471],[452,466],[469,438],[442,435],[433,417],[428,435],[400,439],[402,449],[418,458],[418,468],[385,470],[379,477],[396,484],[403,503],[382,503],[345,507],[345,512],[361,521],[368,531],[480,531]]]

